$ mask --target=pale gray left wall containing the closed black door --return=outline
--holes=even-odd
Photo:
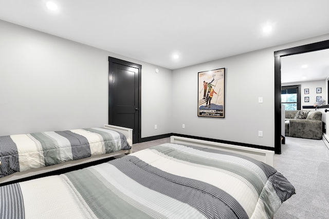
[[[107,124],[108,56],[142,65],[142,137],[171,132],[171,70],[4,21],[0,30],[0,135]]]

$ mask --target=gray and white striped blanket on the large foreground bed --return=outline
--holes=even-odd
[[[262,162],[163,144],[0,187],[0,218],[272,218],[293,194]]]

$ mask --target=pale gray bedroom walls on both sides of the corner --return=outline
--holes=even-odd
[[[268,147],[274,147],[273,52],[329,39],[171,71],[3,21],[0,29],[0,135],[107,123],[107,57],[113,56],[142,65],[142,137],[174,132]],[[197,117],[197,72],[216,68],[226,68],[225,118]]]

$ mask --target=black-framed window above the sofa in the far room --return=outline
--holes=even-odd
[[[285,110],[300,110],[300,85],[282,86],[281,103]]]

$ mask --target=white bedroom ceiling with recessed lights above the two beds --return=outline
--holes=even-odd
[[[328,0],[46,2],[0,0],[0,19],[168,69],[329,33]]]

